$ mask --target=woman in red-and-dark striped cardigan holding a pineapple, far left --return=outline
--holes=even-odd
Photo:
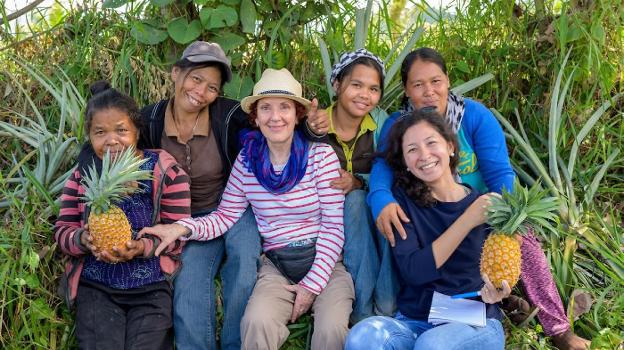
[[[65,183],[61,210],[54,225],[54,239],[70,259],[61,283],[66,301],[76,306],[76,336],[81,349],[173,349],[171,280],[179,267],[181,244],[164,247],[155,236],[137,237],[144,226],[171,223],[189,217],[189,178],[167,152],[137,150],[152,172],[152,180],[141,181],[137,191],[115,203],[132,228],[133,239],[113,252],[98,251],[91,243],[81,183],[86,169],[95,164],[101,171],[107,152],[136,149],[139,109],[127,95],[106,82],[91,87],[85,128],[92,157],[83,158]]]

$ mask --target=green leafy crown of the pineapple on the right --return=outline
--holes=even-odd
[[[507,235],[526,235],[529,227],[542,235],[545,230],[556,233],[551,222],[557,221],[559,201],[555,197],[546,197],[547,193],[539,181],[527,189],[516,179],[511,192],[504,188],[502,196],[491,197],[488,224],[496,232]]]

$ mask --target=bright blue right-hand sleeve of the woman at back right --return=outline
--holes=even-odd
[[[509,161],[503,128],[481,103],[465,99],[464,135],[477,156],[479,171],[488,190],[501,193],[513,188],[516,174]]]

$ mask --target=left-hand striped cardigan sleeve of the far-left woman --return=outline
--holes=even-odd
[[[72,256],[81,256],[88,250],[80,244],[82,234],[81,211],[79,204],[80,174],[74,171],[63,187],[61,210],[54,223],[54,240],[61,251]]]

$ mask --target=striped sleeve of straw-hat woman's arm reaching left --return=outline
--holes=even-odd
[[[182,237],[181,240],[208,241],[223,235],[234,226],[249,205],[244,191],[244,171],[245,167],[239,155],[217,209],[208,215],[177,222],[191,230],[190,236]]]

